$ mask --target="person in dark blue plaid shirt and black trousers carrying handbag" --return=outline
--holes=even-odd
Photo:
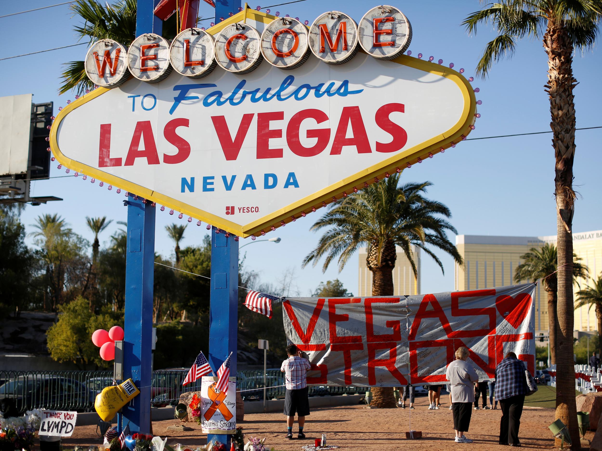
[[[527,393],[525,372],[523,362],[514,352],[508,352],[495,369],[495,399],[501,407],[500,445],[521,446],[518,428]]]

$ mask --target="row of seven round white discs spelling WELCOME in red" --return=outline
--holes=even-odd
[[[321,14],[308,29],[298,19],[278,17],[260,33],[253,26],[231,23],[216,37],[204,28],[188,28],[169,43],[158,34],[138,36],[126,50],[112,39],[99,40],[85,57],[85,72],[95,84],[114,88],[129,75],[149,83],[163,81],[175,70],[196,79],[220,66],[245,74],[265,59],[279,69],[296,69],[309,51],[327,64],[343,64],[361,46],[368,55],[391,60],[403,54],[412,39],[412,27],[403,13],[391,6],[368,11],[360,25],[339,11]]]

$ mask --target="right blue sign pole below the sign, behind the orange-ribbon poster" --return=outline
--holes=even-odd
[[[230,358],[230,376],[236,376],[238,337],[238,241],[211,227],[211,305],[209,306],[209,364],[216,370]],[[232,435],[208,434],[230,449]]]

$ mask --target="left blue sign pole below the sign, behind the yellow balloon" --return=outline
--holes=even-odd
[[[140,394],[123,408],[122,426],[132,434],[151,431],[152,302],[155,265],[155,207],[132,200],[128,205],[125,266],[125,337],[123,379],[132,378]]]

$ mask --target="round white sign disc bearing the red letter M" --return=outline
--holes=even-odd
[[[358,53],[358,26],[351,17],[329,11],[309,28],[309,48],[328,64],[343,64]]]

